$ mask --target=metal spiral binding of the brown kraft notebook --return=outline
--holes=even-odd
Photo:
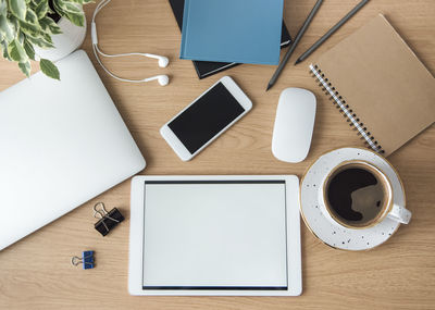
[[[382,146],[380,146],[364,124],[360,122],[360,119],[358,119],[357,114],[353,113],[352,109],[346,103],[346,100],[339,95],[338,90],[335,89],[328,78],[325,77],[322,70],[319,69],[316,64],[310,64],[310,70],[312,76],[319,82],[319,86],[322,87],[325,95],[331,96],[330,100],[333,100],[334,104],[337,104],[337,109],[339,109],[343,115],[347,117],[349,126],[353,126],[355,129],[358,131],[358,135],[361,135],[361,139],[365,140],[365,145],[372,148],[375,152],[384,153]]]

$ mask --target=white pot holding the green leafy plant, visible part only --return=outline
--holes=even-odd
[[[78,49],[86,37],[86,20],[84,27],[74,25],[65,17],[61,17],[57,24],[59,27],[61,27],[62,34],[51,36],[54,48],[41,49],[39,47],[35,47],[36,55],[53,62]]]

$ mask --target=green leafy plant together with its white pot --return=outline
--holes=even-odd
[[[0,0],[3,58],[16,62],[27,77],[32,71],[30,60],[39,61],[44,74],[60,79],[53,61],[82,45],[86,34],[83,4],[89,2],[91,0]],[[78,35],[77,29],[80,29]]]

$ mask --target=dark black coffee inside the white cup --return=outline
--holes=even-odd
[[[389,204],[382,174],[364,162],[347,163],[333,171],[324,193],[331,215],[345,226],[369,226]]]

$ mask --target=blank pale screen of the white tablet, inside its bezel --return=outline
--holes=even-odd
[[[286,289],[283,181],[146,182],[144,289]]]

